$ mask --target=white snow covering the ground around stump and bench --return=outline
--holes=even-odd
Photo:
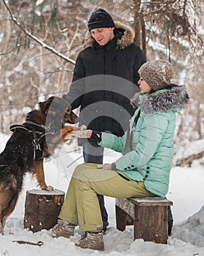
[[[3,151],[9,135],[0,133],[0,151]],[[119,157],[111,150],[105,151],[104,162],[114,162]],[[55,152],[50,161],[45,162],[45,178],[47,185],[66,192],[68,181],[74,167],[82,163],[82,151],[74,143],[63,146]],[[106,208],[109,212],[109,227],[104,235],[105,251],[97,252],[90,249],[80,249],[74,245],[83,234],[77,227],[70,239],[52,238],[51,230],[32,233],[23,229],[24,203],[26,191],[36,188],[36,181],[30,176],[25,177],[24,188],[18,200],[15,211],[7,219],[4,236],[0,236],[0,255],[3,256],[86,256],[86,255],[136,255],[136,256],[193,256],[204,255],[204,167],[195,161],[192,167],[173,167],[170,174],[170,189],[168,199],[173,200],[174,225],[168,244],[154,244],[142,239],[133,241],[133,226],[128,226],[124,232],[116,229],[114,198],[106,197]],[[40,192],[40,191],[39,191]],[[14,241],[23,240],[42,246],[17,244]]]

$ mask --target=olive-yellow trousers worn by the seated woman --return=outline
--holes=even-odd
[[[119,175],[120,174],[120,175]],[[142,181],[132,181],[115,170],[97,169],[97,164],[78,165],[74,170],[59,218],[84,231],[103,229],[99,195],[108,197],[153,197]],[[122,176],[121,176],[122,175]]]

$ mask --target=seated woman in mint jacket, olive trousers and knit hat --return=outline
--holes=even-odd
[[[98,145],[122,152],[111,164],[76,167],[53,236],[69,238],[74,227],[86,231],[76,244],[103,250],[103,222],[97,194],[109,197],[165,197],[173,159],[176,112],[189,100],[184,86],[171,84],[173,66],[165,60],[149,61],[138,70],[141,93],[131,100],[136,108],[123,137],[106,132],[76,132]]]

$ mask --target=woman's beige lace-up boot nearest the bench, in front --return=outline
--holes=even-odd
[[[76,246],[79,246],[83,249],[94,249],[98,251],[104,251],[104,242],[103,242],[103,232],[92,233],[87,232],[85,236],[76,243]]]

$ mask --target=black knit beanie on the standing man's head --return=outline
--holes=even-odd
[[[87,23],[89,31],[91,29],[98,28],[114,28],[114,20],[109,15],[109,12],[106,12],[103,9],[98,9],[92,12]]]

